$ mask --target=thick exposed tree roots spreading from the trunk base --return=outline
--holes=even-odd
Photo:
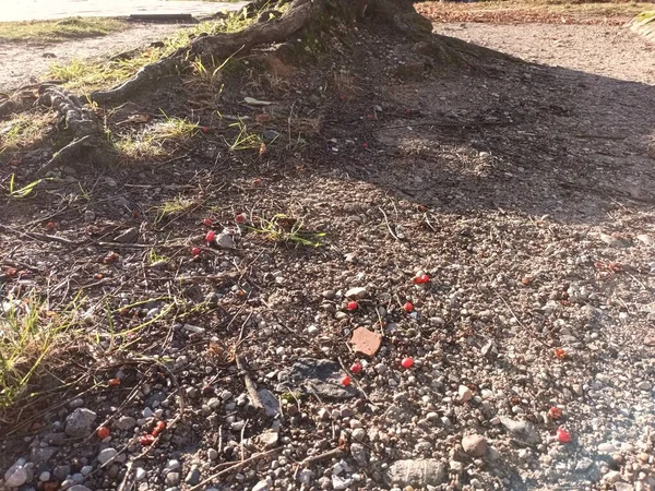
[[[254,0],[241,11],[241,14],[251,17],[261,14],[261,10],[269,5],[269,1]],[[279,0],[277,4],[285,2],[288,0]],[[432,35],[431,23],[416,12],[410,0],[293,0],[289,9],[283,14],[274,9],[275,7],[264,15],[260,15],[257,23],[243,31],[199,36],[189,46],[146,64],[120,85],[94,92],[90,99],[98,104],[122,103],[139,91],[150,88],[162,77],[188,70],[193,60],[207,62],[227,59],[237,52],[245,53],[259,45],[284,43],[294,33],[311,25],[321,28],[325,16],[340,17],[346,22],[359,19],[389,26],[414,40],[414,50],[428,58],[429,64],[448,67],[462,64],[471,59],[512,59],[460,39]],[[85,107],[85,103],[53,85],[47,85],[41,89],[40,103],[52,107],[61,116],[61,122],[72,133],[72,141],[39,169],[36,177],[45,175],[58,165],[72,164],[74,159],[86,158],[88,161],[100,164],[112,160],[112,153],[107,149],[103,125],[94,112]],[[9,106],[9,103],[4,103],[0,106],[0,110],[7,110]]]

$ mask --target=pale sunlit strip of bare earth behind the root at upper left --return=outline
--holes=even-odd
[[[72,59],[93,59],[127,51],[162,40],[180,27],[181,24],[134,24],[120,33],[57,44],[0,40],[0,91],[36,82],[52,63],[63,64]]]

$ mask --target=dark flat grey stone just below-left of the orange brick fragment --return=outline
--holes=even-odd
[[[300,358],[289,370],[289,380],[307,394],[325,399],[347,399],[358,394],[352,385],[341,384],[341,366],[331,360]]]

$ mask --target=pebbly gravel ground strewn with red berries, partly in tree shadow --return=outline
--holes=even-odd
[[[401,82],[392,69],[421,67],[376,39],[370,65],[337,72],[355,80],[341,94],[324,95],[324,79],[294,85],[309,67],[287,75],[323,116],[311,152],[238,166],[206,144],[198,158],[97,176],[93,200],[57,223],[70,241],[100,239],[25,239],[9,258],[47,271],[47,285],[100,290],[114,330],[153,322],[121,340],[102,327],[105,303],[86,312],[99,388],[8,431],[5,486],[653,489],[654,61],[636,38],[608,56],[623,34],[464,32],[549,62],[526,46],[529,29],[535,44],[579,40],[557,47],[559,68]],[[586,58],[569,55],[583,41]],[[243,87],[239,101],[275,95]],[[186,190],[195,207],[147,219]],[[39,203],[11,205],[14,230],[21,206],[39,216]],[[279,213],[324,244],[265,240],[262,217]],[[203,247],[209,217],[221,247]],[[141,247],[163,240],[169,259],[148,260]],[[9,233],[0,246],[17,250]],[[5,280],[17,291],[40,276]],[[171,297],[195,310],[171,320]]]

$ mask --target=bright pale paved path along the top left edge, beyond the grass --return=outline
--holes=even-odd
[[[135,13],[212,14],[237,10],[242,3],[177,0],[4,0],[0,22],[62,19],[70,16],[112,17]]]

